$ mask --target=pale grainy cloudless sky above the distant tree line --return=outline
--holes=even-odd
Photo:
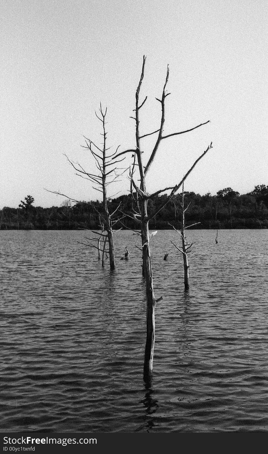
[[[210,120],[161,142],[147,191],[178,183],[210,142],[184,190],[243,194],[268,185],[266,0],[9,0],[0,17],[0,208],[18,207],[27,195],[42,207],[66,200],[46,189],[99,199],[64,154],[95,172],[81,145],[83,136],[102,143],[100,102],[111,151],[134,147],[130,116],[144,54],[141,133],[159,128],[155,97],[168,64],[164,134]],[[142,139],[144,162],[155,139]],[[128,193],[125,175],[110,197]]]

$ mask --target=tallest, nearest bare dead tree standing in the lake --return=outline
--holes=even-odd
[[[161,192],[166,192],[168,190],[171,190],[168,201],[172,199],[174,194],[178,191],[178,189],[181,187],[183,184],[184,180],[188,177],[189,173],[193,170],[194,166],[198,163],[198,161],[203,158],[203,156],[208,152],[210,148],[212,148],[212,143],[208,146],[208,148],[199,156],[198,159],[194,162],[192,167],[189,169],[189,171],[186,173],[184,178],[175,186],[172,187],[167,187],[160,189],[159,191],[156,191],[152,194],[149,194],[146,189],[146,175],[149,171],[149,168],[151,167],[151,164],[154,161],[155,154],[159,148],[160,142],[162,142],[164,139],[171,137],[171,136],[176,136],[179,134],[187,133],[189,131],[193,131],[196,128],[199,128],[203,124],[206,124],[209,122],[206,121],[205,123],[201,123],[198,126],[195,126],[194,128],[189,128],[188,130],[185,131],[180,131],[180,132],[175,132],[175,133],[170,133],[167,135],[164,135],[163,130],[164,130],[164,121],[165,121],[165,99],[169,95],[169,93],[166,93],[166,85],[168,83],[169,79],[169,66],[167,68],[167,74],[166,74],[166,79],[164,83],[164,88],[162,92],[162,97],[161,99],[156,98],[156,100],[161,104],[161,109],[162,109],[162,114],[161,114],[161,120],[160,120],[160,127],[156,131],[147,133],[147,134],[142,134],[140,133],[139,129],[139,111],[143,107],[144,103],[146,102],[147,96],[145,99],[140,102],[139,101],[139,94],[140,94],[140,89],[142,85],[142,81],[144,78],[144,66],[145,66],[145,59],[146,57],[144,56],[143,58],[143,65],[142,65],[142,71],[141,71],[141,76],[139,79],[139,84],[136,90],[136,103],[135,103],[135,109],[134,109],[134,120],[135,120],[135,137],[136,137],[136,144],[135,148],[131,148],[128,150],[125,150],[121,153],[118,153],[114,156],[114,158],[119,158],[125,153],[131,153],[132,156],[134,157],[132,166],[129,168],[129,178],[130,178],[130,191],[133,193],[133,199],[136,200],[136,205],[135,209],[131,214],[131,217],[136,221],[137,225],[139,226],[140,229],[140,236],[141,236],[141,242],[142,242],[142,257],[143,257],[143,273],[145,277],[145,285],[146,285],[146,299],[147,299],[147,310],[146,310],[146,345],[145,345],[145,353],[144,353],[144,380],[147,381],[150,378],[150,375],[153,370],[153,357],[154,357],[154,340],[155,340],[155,320],[154,320],[154,311],[155,311],[155,305],[156,302],[159,301],[159,299],[155,299],[154,296],[154,286],[153,286],[153,274],[152,274],[152,266],[151,266],[151,257],[150,257],[150,237],[152,234],[149,234],[149,221],[156,216],[156,214],[164,208],[167,202],[164,202],[160,208],[155,211],[154,213],[148,213],[147,211],[147,205],[149,199],[153,198],[154,196],[160,194]],[[151,151],[150,157],[146,165],[144,166],[143,162],[143,150],[141,146],[141,140],[145,137],[148,137],[150,135],[157,134],[157,138],[154,144],[154,148]],[[137,161],[137,163],[136,163]],[[139,168],[139,183],[137,184],[134,181],[134,171],[135,168]]]

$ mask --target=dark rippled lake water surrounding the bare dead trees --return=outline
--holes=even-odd
[[[188,231],[189,293],[178,234],[152,238],[147,385],[140,238],[116,233],[111,273],[85,236],[0,232],[1,430],[268,431],[268,231]]]

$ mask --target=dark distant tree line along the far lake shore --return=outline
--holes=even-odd
[[[165,207],[152,219],[150,228],[170,229],[169,224],[180,227],[181,194],[175,195]],[[203,196],[184,191],[184,198],[189,204],[188,224],[200,222],[197,229],[225,228],[268,228],[268,186],[255,186],[252,192],[240,195],[232,188],[224,188],[212,196],[209,192]],[[158,212],[158,207],[168,201],[167,195],[155,196],[148,202],[148,211]],[[122,195],[108,201],[109,211],[113,212],[120,204],[120,212],[127,216],[114,228],[136,228],[131,218],[132,196]],[[77,202],[73,206],[66,200],[60,207],[34,207],[34,198],[25,197],[18,208],[4,207],[0,210],[0,229],[39,229],[39,230],[75,230],[79,228],[99,229],[100,202]],[[122,214],[123,216],[123,214]]]

